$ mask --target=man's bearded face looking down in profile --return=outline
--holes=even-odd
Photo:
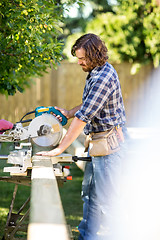
[[[92,70],[92,67],[89,63],[87,63],[86,57],[85,57],[85,50],[83,48],[77,49],[75,51],[76,57],[78,58],[78,64],[82,67],[84,72],[90,72]]]

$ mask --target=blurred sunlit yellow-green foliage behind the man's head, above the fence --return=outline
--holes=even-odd
[[[156,1],[117,2],[113,12],[98,14],[89,21],[84,33],[98,34],[108,46],[111,61],[132,63],[132,73],[145,63],[157,67],[160,62],[160,8]],[[66,49],[76,37],[69,37]]]

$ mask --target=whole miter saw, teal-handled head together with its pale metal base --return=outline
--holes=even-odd
[[[33,113],[35,118],[24,120],[24,117]],[[56,115],[61,116],[61,122]],[[23,126],[24,123],[29,125]],[[26,174],[27,170],[32,168],[33,145],[39,146],[41,151],[49,147],[55,148],[62,138],[63,126],[66,123],[67,118],[54,107],[41,106],[25,114],[19,122],[14,124],[13,129],[6,130],[0,135],[0,142],[19,143],[8,155],[7,163],[14,166],[5,167],[4,172],[10,172],[11,175]],[[66,158],[67,161],[68,158]],[[63,162],[65,162],[64,158]],[[60,166],[58,166],[58,172],[59,169]],[[56,168],[55,171],[57,172]]]

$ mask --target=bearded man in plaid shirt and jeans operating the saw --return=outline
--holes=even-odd
[[[83,71],[89,73],[82,104],[69,111],[58,108],[68,119],[74,119],[57,148],[38,153],[48,156],[61,154],[83,129],[86,135],[91,136],[108,133],[110,129],[116,132],[120,150],[93,156],[92,161],[86,164],[79,240],[108,240],[115,239],[116,235],[114,227],[118,214],[114,210],[125,149],[126,118],[119,79],[113,66],[107,62],[107,52],[104,42],[94,34],[85,34],[77,39],[71,53],[78,58]]]

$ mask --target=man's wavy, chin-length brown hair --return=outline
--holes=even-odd
[[[88,33],[78,38],[72,46],[71,54],[76,56],[75,52],[80,48],[85,50],[87,62],[92,67],[102,66],[108,59],[108,49],[105,43],[93,33]]]

